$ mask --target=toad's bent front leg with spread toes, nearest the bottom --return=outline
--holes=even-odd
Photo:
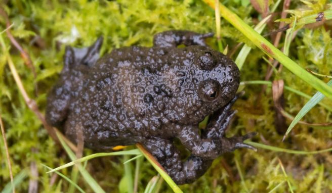
[[[237,98],[238,96],[235,96],[233,100],[211,117],[208,127],[202,131],[201,135],[198,134],[198,127],[183,127],[178,137],[193,155],[215,159],[225,152],[232,152],[238,148],[256,150],[254,147],[243,143],[245,139],[253,137],[256,134],[255,132],[243,136],[225,137],[225,131],[235,114],[235,111],[230,109]]]

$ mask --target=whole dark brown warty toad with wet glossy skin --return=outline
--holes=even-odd
[[[224,152],[251,148],[243,140],[253,135],[224,136],[235,113],[230,108],[239,70],[205,45],[210,36],[165,31],[154,36],[153,47],[123,47],[98,61],[102,38],[85,49],[66,47],[60,79],[48,96],[48,123],[75,142],[82,131],[91,149],[139,142],[175,182],[193,182]],[[199,134],[207,115],[210,123]],[[175,137],[191,152],[184,161]]]

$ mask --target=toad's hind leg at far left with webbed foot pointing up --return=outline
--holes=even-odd
[[[68,116],[72,94],[81,89],[84,74],[99,58],[102,42],[103,38],[99,37],[94,44],[82,49],[66,46],[59,80],[47,98],[45,116],[50,125],[62,127]]]

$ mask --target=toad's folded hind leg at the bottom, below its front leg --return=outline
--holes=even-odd
[[[193,182],[208,170],[213,161],[191,155],[183,162],[178,149],[168,139],[153,137],[142,143],[177,184]]]

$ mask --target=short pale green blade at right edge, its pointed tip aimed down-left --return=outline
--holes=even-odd
[[[327,85],[332,85],[332,80],[327,82]],[[285,138],[289,132],[293,129],[293,127],[314,107],[316,106],[325,96],[321,92],[316,92],[312,98],[302,107],[300,112],[295,116],[292,123],[289,125],[285,135],[283,138]]]

